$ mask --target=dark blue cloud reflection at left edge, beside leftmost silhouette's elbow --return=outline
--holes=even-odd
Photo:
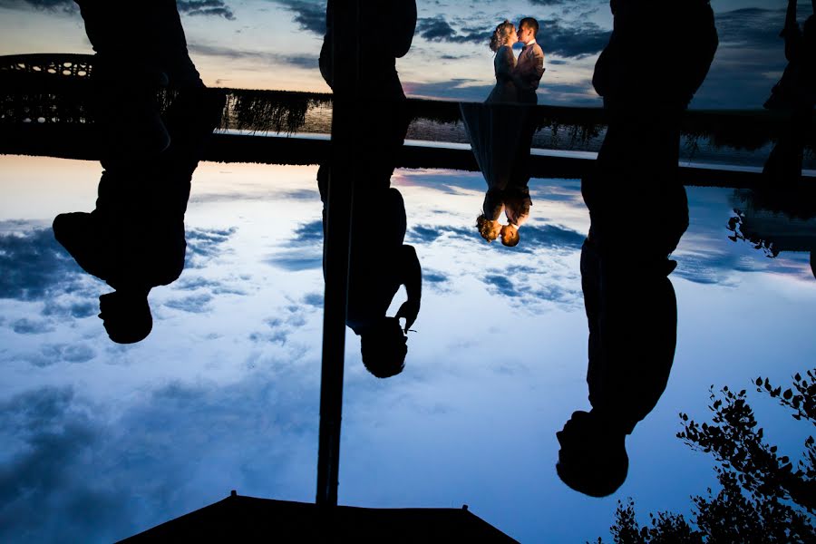
[[[35,300],[55,288],[71,291],[81,274],[51,228],[0,235],[0,298]]]

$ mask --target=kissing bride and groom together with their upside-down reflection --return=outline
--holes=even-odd
[[[499,24],[490,41],[496,84],[483,104],[461,104],[471,148],[488,186],[476,227],[488,242],[501,238],[509,247],[519,243],[519,227],[529,218],[529,148],[535,132],[531,108],[544,73],[538,32],[539,23],[531,17],[521,19],[518,31],[510,21]],[[523,44],[518,58],[513,53],[517,42]],[[506,225],[499,222],[502,211]]]

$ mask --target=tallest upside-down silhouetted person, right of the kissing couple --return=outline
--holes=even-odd
[[[590,217],[581,287],[592,409],[573,413],[557,433],[556,466],[569,487],[596,497],[626,480],[626,437],[655,407],[674,362],[669,255],[688,227],[677,177],[680,120],[717,46],[707,0],[610,5],[614,28],[593,77],[608,128],[581,182]]]

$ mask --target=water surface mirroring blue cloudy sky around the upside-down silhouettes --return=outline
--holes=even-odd
[[[121,539],[230,490],[314,500],[316,167],[202,163],[187,266],[152,290],[153,331],[137,345],[108,339],[96,315],[110,287],[50,228],[58,213],[93,208],[100,172],[97,162],[0,157],[0,540]],[[627,440],[623,487],[606,499],[570,491],[554,465],[555,432],[589,408],[579,181],[531,180],[517,248],[488,245],[472,227],[479,173],[397,170],[393,187],[423,266],[423,304],[405,370],[391,379],[368,374],[347,335],[341,504],[468,504],[523,542],[608,539],[617,500],[634,498],[644,517],[687,513],[690,495],[715,487],[712,459],[675,438],[679,412],[707,421],[712,384],[753,391],[758,375],[789,384],[816,360],[809,254],[768,257],[731,241],[745,194],[689,188],[668,386]],[[813,221],[800,221],[811,243]],[[749,398],[769,442],[797,459],[812,429]]]

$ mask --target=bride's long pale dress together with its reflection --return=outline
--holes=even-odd
[[[511,78],[515,65],[512,48],[502,45],[493,59],[496,85],[487,100],[484,103],[460,103],[461,118],[473,155],[487,181],[484,214],[493,220],[499,219],[503,209],[500,192],[510,180],[522,122],[528,111],[518,102],[518,92]]]

